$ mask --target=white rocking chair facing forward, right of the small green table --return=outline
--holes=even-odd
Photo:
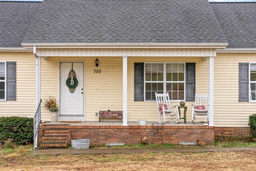
[[[192,122],[196,124],[196,117],[204,117],[207,118],[207,123],[209,123],[208,108],[209,95],[196,93],[195,104],[192,105]]]

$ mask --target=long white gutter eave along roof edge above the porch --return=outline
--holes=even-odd
[[[25,49],[36,48],[191,48],[191,49],[224,49],[228,43],[22,43]]]

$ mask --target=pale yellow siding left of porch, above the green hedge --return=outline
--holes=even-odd
[[[0,52],[0,61],[16,62],[16,101],[0,101],[0,116],[33,117],[36,112],[36,58],[30,52]]]

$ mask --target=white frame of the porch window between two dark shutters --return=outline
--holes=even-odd
[[[166,93],[166,83],[184,83],[184,99],[183,100],[170,100],[171,102],[186,102],[186,62],[144,62],[144,102],[153,102],[156,100],[146,100],[146,64],[164,64],[164,93]],[[166,64],[184,64],[184,81],[168,81],[166,82]],[[162,81],[156,81],[161,83]],[[154,83],[151,81],[151,83]]]

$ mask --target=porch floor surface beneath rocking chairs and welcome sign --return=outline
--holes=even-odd
[[[157,124],[157,122],[153,121],[147,121],[146,126],[151,126],[151,123]],[[74,125],[74,126],[122,126],[122,122],[98,122],[98,121],[83,121],[83,122],[47,122],[43,123],[43,125]],[[187,122],[185,124],[184,122],[181,122],[180,124],[174,124],[174,123],[164,123],[165,126],[204,126],[203,123],[197,122],[196,124],[193,124],[192,122]],[[139,126],[138,121],[128,121],[128,126]]]

